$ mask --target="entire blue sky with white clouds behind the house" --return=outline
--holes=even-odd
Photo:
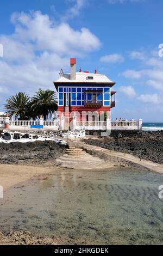
[[[0,109],[17,92],[54,89],[69,58],[116,82],[112,119],[163,122],[162,0],[5,0]]]

